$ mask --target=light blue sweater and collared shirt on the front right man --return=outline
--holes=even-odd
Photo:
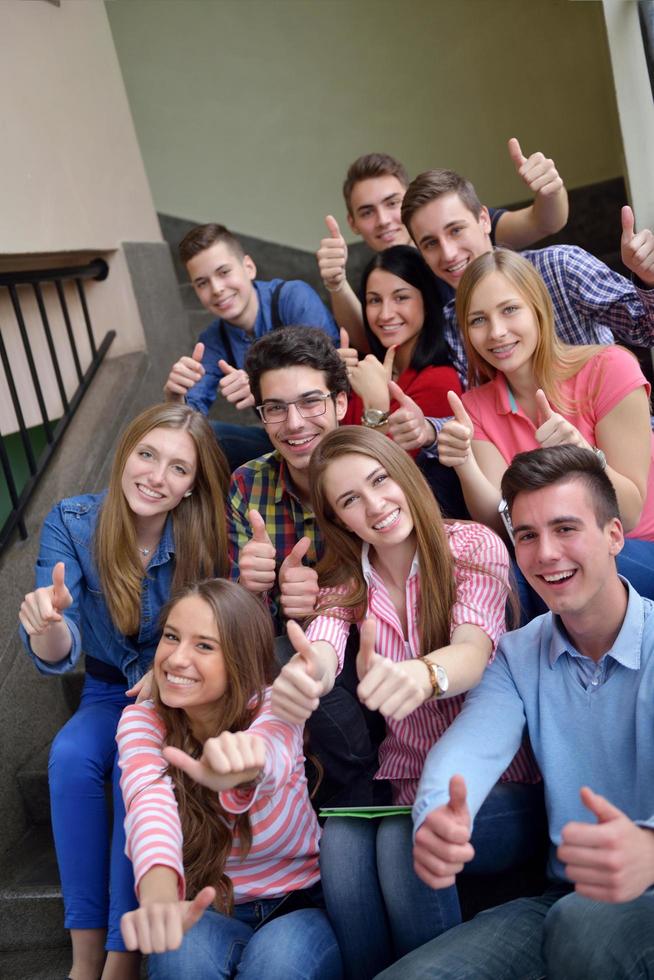
[[[622,627],[599,664],[574,649],[552,613],[502,638],[495,661],[427,756],[413,807],[416,830],[447,802],[455,774],[466,781],[474,818],[525,726],[543,775],[553,877],[565,879],[555,853],[564,825],[595,820],[580,800],[582,786],[654,829],[654,603],[628,588]]]

